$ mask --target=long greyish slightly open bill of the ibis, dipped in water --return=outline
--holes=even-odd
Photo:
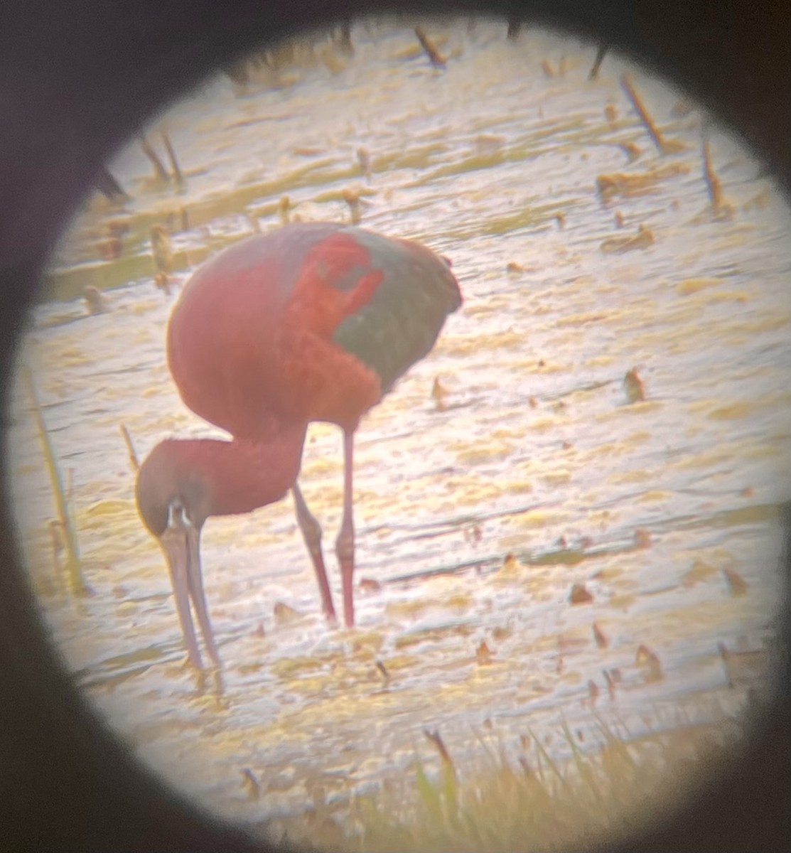
[[[182,624],[184,642],[190,664],[203,669],[198,640],[195,636],[190,602],[198,617],[200,632],[206,646],[206,652],[216,666],[222,666],[211,629],[206,597],[203,589],[203,575],[200,566],[200,532],[186,518],[182,508],[171,508],[170,523],[159,537],[165,551],[170,569],[170,582],[176,598],[176,612]]]

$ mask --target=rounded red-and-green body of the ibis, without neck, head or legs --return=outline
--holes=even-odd
[[[272,417],[348,426],[460,304],[446,262],[417,243],[293,223],[195,272],[170,318],[170,369],[196,414],[240,437]]]

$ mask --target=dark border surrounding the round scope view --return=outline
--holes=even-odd
[[[719,113],[788,194],[788,2],[390,0],[386,6],[529,17],[606,40]],[[217,65],[289,32],[384,9],[376,0],[2,0],[3,392],[39,272],[101,161]],[[2,465],[4,486],[4,458]],[[20,572],[4,488],[2,497],[0,850],[265,850],[153,780],[72,691]],[[787,531],[789,523],[791,515]],[[787,577],[788,558],[787,547]],[[748,750],[729,756],[712,786],[684,809],[657,816],[642,838],[610,850],[791,849],[788,623],[782,627],[786,654],[777,696],[756,713]]]

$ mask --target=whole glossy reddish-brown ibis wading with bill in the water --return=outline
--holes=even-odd
[[[232,439],[165,439],[136,483],[141,518],[170,568],[190,663],[201,666],[192,601],[206,651],[220,665],[201,576],[205,520],[250,513],[288,490],[323,610],[334,620],[321,528],[297,485],[311,421],[344,431],[336,553],[345,622],[354,624],[355,430],[429,353],[459,305],[445,258],[419,243],[335,223],[293,223],[249,237],[196,270],[170,316],[168,364],[184,403]]]

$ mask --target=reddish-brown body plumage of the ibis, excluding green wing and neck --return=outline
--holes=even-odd
[[[349,292],[332,281],[366,261],[351,238],[333,235],[311,249],[288,294],[267,286],[282,274],[276,260],[234,278],[217,258],[202,267],[168,328],[170,372],[184,403],[239,438],[258,438],[264,414],[354,429],[378,403],[380,382],[332,345],[332,333],[383,276],[373,270]]]

